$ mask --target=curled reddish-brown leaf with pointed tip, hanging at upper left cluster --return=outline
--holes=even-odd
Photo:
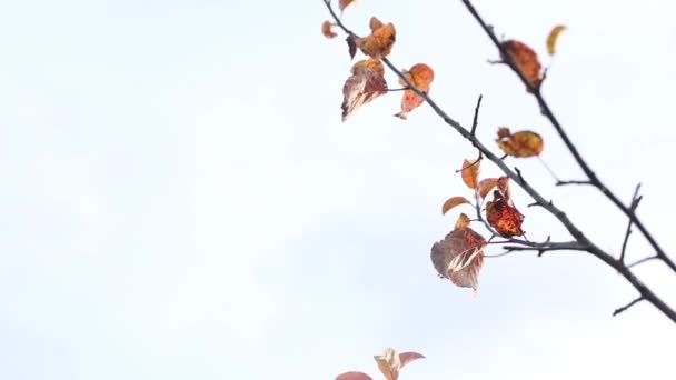
[[[352,68],[352,76],[342,87],[342,121],[347,120],[357,108],[385,93],[387,93],[387,83],[379,72],[367,67]]]

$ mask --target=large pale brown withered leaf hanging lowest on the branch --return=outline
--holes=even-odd
[[[479,286],[486,240],[470,228],[450,231],[431,247],[431,262],[441,278],[461,288]]]

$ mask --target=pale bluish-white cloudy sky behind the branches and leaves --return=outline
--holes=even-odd
[[[568,26],[546,98],[623,199],[643,183],[639,216],[676,257],[675,6],[476,6],[545,64]],[[483,93],[484,141],[535,130],[581,179],[459,0],[361,0],[344,21],[365,33],[371,16],[395,23],[397,67],[435,69],[451,117],[469,126]],[[428,107],[392,118],[398,92],[342,123],[351,63],[327,18],[320,0],[2,3],[0,378],[376,377],[389,346],[427,356],[402,379],[673,379],[673,323],[648,303],[612,318],[636,293],[589,256],[490,259],[478,297],[437,278],[429,249],[459,213],[440,207],[469,196],[455,169],[476,151]],[[626,219],[598,193],[509,162],[619,251]],[[568,238],[513,191],[530,239]],[[650,254],[638,233],[629,249]],[[676,306],[674,273],[637,273]]]

